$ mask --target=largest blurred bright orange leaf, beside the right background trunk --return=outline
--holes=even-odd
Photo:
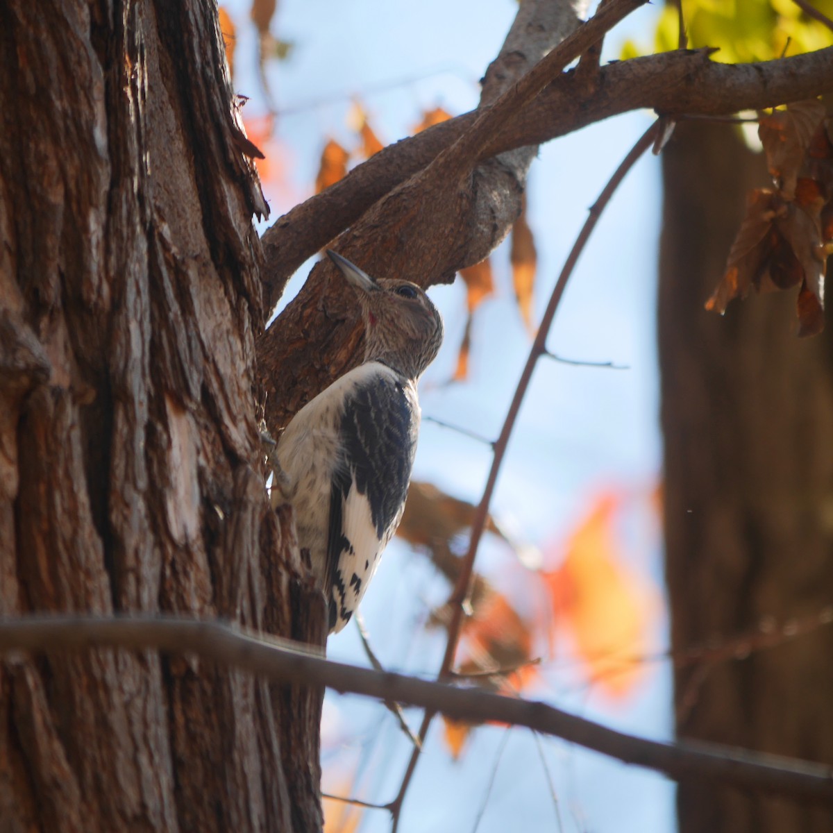
[[[591,678],[616,698],[640,679],[638,657],[646,653],[655,610],[650,586],[621,557],[615,526],[620,502],[602,495],[567,541],[561,567],[543,576],[556,628],[569,628]]]

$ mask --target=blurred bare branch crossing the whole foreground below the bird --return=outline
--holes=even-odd
[[[0,654],[90,648],[193,653],[271,680],[327,686],[438,711],[456,720],[497,721],[560,737],[675,780],[700,778],[833,806],[833,768],[718,744],[649,741],[547,706],[325,659],[298,643],[217,621],[178,616],[32,616],[0,621]]]

